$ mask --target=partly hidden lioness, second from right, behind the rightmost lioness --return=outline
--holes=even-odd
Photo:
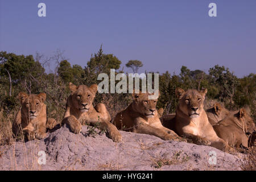
[[[230,111],[216,102],[213,107],[206,110],[210,125],[215,125],[217,122],[228,117]]]

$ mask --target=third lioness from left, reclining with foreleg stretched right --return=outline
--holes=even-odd
[[[133,93],[133,102],[119,112],[114,119],[118,129],[155,135],[164,140],[177,140],[174,131],[163,127],[156,110],[156,100],[149,100],[149,93]],[[160,112],[162,113],[162,109]]]

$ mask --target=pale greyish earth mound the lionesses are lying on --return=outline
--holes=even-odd
[[[120,132],[122,142],[114,143],[87,126],[76,135],[64,125],[46,139],[0,147],[0,170],[240,169],[241,156],[213,147]]]

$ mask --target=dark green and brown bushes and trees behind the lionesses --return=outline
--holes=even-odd
[[[49,60],[55,61],[56,68],[54,72],[46,73],[43,65]],[[137,72],[142,65],[139,62],[130,64],[130,67],[134,67],[134,72]],[[102,46],[90,58],[85,68],[80,65],[71,65],[67,59],[64,59],[61,52],[57,52],[47,60],[40,60],[40,57],[37,56],[35,61],[32,55],[15,55],[2,51],[0,52],[0,112],[4,117],[2,121],[13,121],[15,113],[20,107],[17,98],[19,92],[34,94],[44,92],[47,94],[48,117],[56,118],[60,122],[65,111],[67,97],[70,94],[69,82],[88,86],[98,84],[100,82],[97,80],[99,73],[104,72],[109,75],[110,68],[119,69],[120,65],[121,61],[117,57],[103,53]],[[6,69],[12,80],[11,96],[9,96],[10,82]],[[115,74],[117,73],[122,73],[122,71],[116,70]],[[116,81],[116,84],[117,82],[119,81]],[[185,66],[181,67],[179,75],[171,74],[168,71],[162,73],[159,75],[160,97],[157,107],[158,109],[163,107],[165,114],[175,113],[177,105],[175,89],[177,87],[185,90],[207,88],[209,100],[223,102],[230,110],[249,106],[251,116],[254,120],[256,119],[256,75],[254,73],[237,78],[228,68],[219,65],[210,68],[209,73],[199,69],[192,71]],[[131,103],[131,94],[97,93],[94,105],[100,102],[106,105],[113,119],[119,110]],[[92,131],[94,130],[92,129]]]

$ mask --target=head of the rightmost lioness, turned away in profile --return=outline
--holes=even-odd
[[[240,109],[238,113],[234,114],[232,118],[233,122],[235,122],[241,129],[246,133],[246,135],[250,135],[255,131],[255,123],[253,119],[247,114],[244,108]]]

